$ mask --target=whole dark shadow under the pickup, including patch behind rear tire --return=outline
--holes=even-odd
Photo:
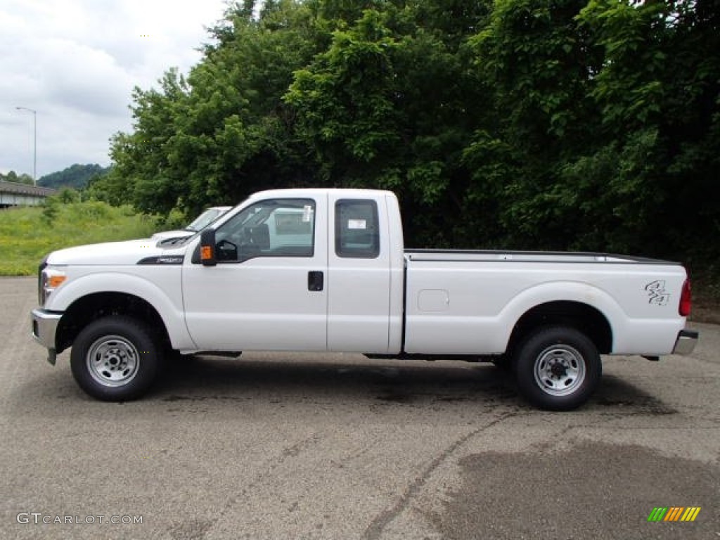
[[[268,359],[194,356],[176,361],[146,398],[165,402],[265,400],[377,405],[476,403],[533,410],[511,372],[458,361],[385,361],[352,355],[351,362],[272,354]],[[582,410],[667,415],[677,410],[618,377],[604,375]]]

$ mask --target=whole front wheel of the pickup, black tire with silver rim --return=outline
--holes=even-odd
[[[94,320],[78,334],[70,366],[79,386],[102,401],[142,396],[163,361],[161,341],[143,323],[124,315]]]

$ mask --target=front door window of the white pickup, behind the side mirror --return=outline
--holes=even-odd
[[[269,199],[256,202],[215,232],[219,263],[256,257],[312,257],[315,251],[315,201]]]

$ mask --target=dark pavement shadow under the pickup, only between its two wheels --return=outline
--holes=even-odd
[[[197,356],[166,369],[150,399],[302,397],[412,404],[423,401],[517,401],[513,378],[463,362],[377,361],[353,355],[313,361],[274,354],[268,361]]]

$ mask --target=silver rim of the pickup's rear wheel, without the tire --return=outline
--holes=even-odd
[[[535,382],[546,394],[565,396],[585,381],[585,359],[569,345],[553,345],[535,360]]]

